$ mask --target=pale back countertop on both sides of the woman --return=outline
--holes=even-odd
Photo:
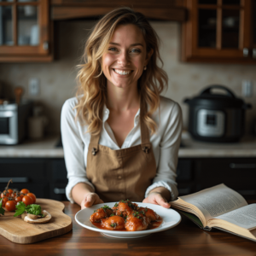
[[[1,145],[0,157],[63,158],[63,149],[55,147],[59,141],[59,136],[49,136],[15,146]],[[256,157],[256,137],[242,137],[239,143],[202,143],[192,139],[188,132],[183,132],[178,157]]]

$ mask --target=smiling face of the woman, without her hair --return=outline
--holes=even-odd
[[[143,33],[137,26],[117,26],[102,55],[102,70],[108,84],[119,88],[137,86],[150,55],[147,55]]]

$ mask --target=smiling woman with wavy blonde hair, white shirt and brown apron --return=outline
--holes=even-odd
[[[130,199],[170,207],[177,198],[182,113],[160,96],[159,39],[129,8],[98,21],[79,65],[77,97],[61,111],[67,198],[84,207]]]

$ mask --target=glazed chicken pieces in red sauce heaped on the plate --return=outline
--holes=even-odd
[[[98,223],[97,226],[103,229],[123,231],[147,230],[149,224],[157,226],[159,220],[160,216],[152,209],[138,207],[129,200],[119,201],[112,209],[108,206],[99,208],[90,216],[90,222]]]

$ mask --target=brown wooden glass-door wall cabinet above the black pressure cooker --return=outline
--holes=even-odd
[[[187,0],[182,60],[256,64],[256,0]]]

